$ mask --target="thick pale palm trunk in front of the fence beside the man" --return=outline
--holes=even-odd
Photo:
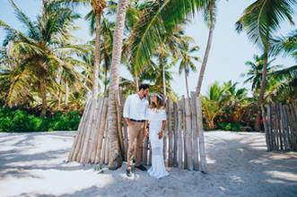
[[[109,86],[109,169],[115,170],[121,167],[123,158],[118,141],[118,121],[116,99],[118,99],[119,65],[121,60],[123,34],[125,27],[127,4],[129,0],[118,1],[118,12],[115,31],[113,34],[112,59],[110,65]]]

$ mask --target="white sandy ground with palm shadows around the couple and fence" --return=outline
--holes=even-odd
[[[205,133],[208,174],[170,169],[153,179],[67,164],[74,133],[0,133],[4,196],[297,196],[297,153],[266,152],[263,133]]]

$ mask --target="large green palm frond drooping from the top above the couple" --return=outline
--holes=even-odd
[[[192,17],[207,0],[164,0],[148,1],[142,6],[139,20],[127,40],[129,43],[129,61],[135,67],[147,64],[158,47],[166,43],[176,27]],[[174,14],[173,14],[174,13]]]

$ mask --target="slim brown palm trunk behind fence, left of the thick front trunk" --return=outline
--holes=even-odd
[[[92,79],[92,96],[96,97],[99,92],[99,67],[100,67],[100,21],[101,12],[96,13],[96,37],[95,37],[95,52],[93,65],[93,79]]]

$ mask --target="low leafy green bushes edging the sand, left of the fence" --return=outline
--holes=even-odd
[[[80,119],[77,111],[39,117],[21,109],[0,108],[0,132],[73,131]]]

